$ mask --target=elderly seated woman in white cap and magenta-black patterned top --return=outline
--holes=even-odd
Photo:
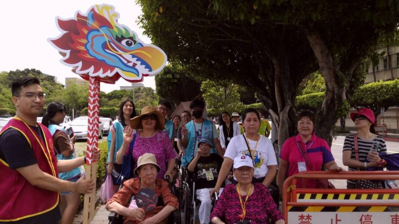
[[[210,215],[212,224],[269,224],[269,220],[285,224],[267,188],[251,183],[253,167],[249,156],[234,158],[233,174],[238,183],[224,188]]]

